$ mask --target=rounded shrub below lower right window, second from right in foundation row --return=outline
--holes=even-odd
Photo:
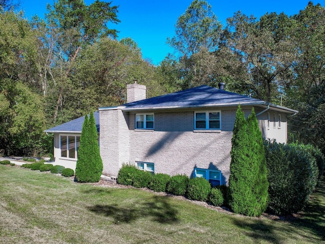
[[[211,185],[205,178],[191,178],[188,180],[186,197],[191,200],[206,201]]]

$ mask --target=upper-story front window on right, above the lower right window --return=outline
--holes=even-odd
[[[194,129],[220,130],[220,111],[194,112]]]

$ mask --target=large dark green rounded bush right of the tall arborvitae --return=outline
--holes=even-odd
[[[318,168],[308,150],[296,144],[265,141],[270,203],[278,215],[290,215],[306,206],[317,184]]]

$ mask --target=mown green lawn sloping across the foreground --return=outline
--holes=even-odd
[[[325,182],[300,219],[225,214],[0,165],[0,243],[325,243]]]

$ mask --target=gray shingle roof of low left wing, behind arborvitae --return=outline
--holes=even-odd
[[[93,113],[93,116],[95,118],[97,131],[100,132],[100,112],[95,111]],[[85,116],[82,116],[82,117],[76,118],[74,120],[68,121],[67,123],[58,125],[58,126],[53,127],[51,129],[48,129],[45,132],[51,132],[51,133],[60,133],[60,132],[64,132],[64,133],[69,133],[69,132],[70,133],[81,133],[82,125],[83,125],[84,120],[85,120]]]

